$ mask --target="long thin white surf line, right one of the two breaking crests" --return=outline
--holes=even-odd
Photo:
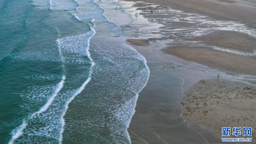
[[[79,18],[78,18],[79,19]],[[76,92],[73,94],[73,96],[67,101],[66,105],[65,105],[65,110],[62,113],[62,116],[60,117],[61,120],[61,129],[60,129],[60,136],[59,136],[59,144],[62,144],[63,141],[63,132],[64,132],[64,125],[65,125],[65,120],[64,120],[64,116],[66,115],[67,109],[68,109],[68,105],[70,104],[70,102],[72,100],[74,100],[74,98],[83,91],[83,89],[86,87],[86,85],[90,82],[91,80],[91,76],[92,76],[92,67],[95,65],[95,63],[93,62],[92,58],[90,57],[90,52],[89,52],[89,47],[90,47],[90,39],[95,35],[96,31],[94,30],[94,28],[91,27],[91,31],[93,32],[92,36],[90,36],[90,38],[88,39],[88,45],[87,45],[87,56],[88,58],[91,60],[91,70],[89,73],[89,76],[87,78],[87,80],[82,84],[82,86],[78,89],[76,89]]]

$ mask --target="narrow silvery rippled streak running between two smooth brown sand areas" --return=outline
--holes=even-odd
[[[160,50],[165,50],[169,47],[208,47],[212,48],[214,50],[222,51],[222,52],[228,52],[231,54],[236,54],[240,56],[255,56],[256,52],[246,52],[246,51],[241,51],[241,50],[236,50],[233,48],[225,48],[225,47],[218,47],[218,46],[212,46],[208,44],[204,44],[202,42],[197,42],[197,41],[183,41],[183,40],[173,40],[173,39],[168,39],[168,40],[155,40],[155,41],[149,41],[147,43],[149,46],[157,46],[161,47]]]

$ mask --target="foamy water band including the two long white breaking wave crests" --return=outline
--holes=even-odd
[[[58,39],[59,54],[66,73],[58,88],[37,112],[23,120],[21,126],[13,130],[12,143],[39,143],[37,138],[46,137],[48,143],[62,143],[64,116],[68,104],[77,96],[91,80],[94,62],[90,57],[90,39],[95,30],[77,36]],[[65,81],[65,84],[64,84]],[[37,88],[36,88],[37,89]],[[41,90],[42,91],[42,90]],[[45,93],[50,93],[45,90]]]

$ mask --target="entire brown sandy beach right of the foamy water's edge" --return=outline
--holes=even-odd
[[[256,76],[255,37],[246,33],[247,30],[236,31],[230,27],[198,36],[184,31],[172,35],[173,28],[186,29],[193,22],[168,21],[174,16],[166,9],[197,13],[216,22],[235,22],[255,31],[256,5],[232,0],[144,2],[162,6],[134,4],[136,10],[140,10],[139,16],[143,15],[152,24],[162,24],[154,34],[163,36],[140,38],[128,33],[125,38],[127,44],[147,59],[150,69],[149,82],[139,93],[136,112],[128,128],[132,143],[243,143],[222,142],[222,127],[252,127],[252,142],[244,143],[255,143],[255,80],[248,78],[251,84],[246,84],[229,77]],[[149,13],[151,10],[154,14]],[[160,15],[163,12],[165,14]],[[220,27],[225,27],[226,23],[222,24]],[[139,24],[130,26],[140,32]],[[190,71],[187,68],[190,66],[200,70]],[[221,73],[220,79],[217,79],[218,73]],[[177,81],[181,84],[176,85]]]

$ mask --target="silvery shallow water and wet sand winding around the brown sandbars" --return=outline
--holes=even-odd
[[[217,79],[220,71],[164,54],[162,50],[175,46],[197,46],[254,58],[254,46],[246,53],[208,45],[204,41],[189,41],[189,38],[217,31],[239,31],[255,39],[255,30],[240,23],[218,21],[174,7],[118,2],[125,9],[124,12],[130,13],[134,19],[129,27],[123,28],[125,39],[146,58],[151,72],[146,87],[139,93],[136,113],[128,129],[132,143],[221,143],[218,135],[202,129],[196,123],[185,122],[180,104],[184,92],[194,82]],[[135,16],[135,12],[139,15]],[[187,39],[184,40],[183,36]],[[252,75],[221,72],[221,79],[240,81],[249,86],[256,84],[256,77]]]

